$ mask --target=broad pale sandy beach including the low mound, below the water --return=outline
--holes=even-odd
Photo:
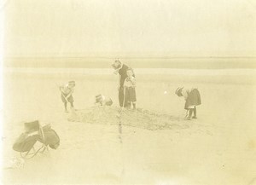
[[[137,74],[138,110],[124,110],[120,132],[115,76],[6,72],[3,184],[256,184],[256,74],[195,74]],[[64,113],[56,84],[70,79],[78,111]],[[201,91],[196,120],[183,119],[180,85]],[[94,106],[98,93],[113,107]],[[52,125],[60,147],[7,168],[34,119]]]

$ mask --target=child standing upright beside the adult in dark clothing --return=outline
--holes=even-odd
[[[131,103],[133,106],[133,109],[136,109],[136,79],[134,77],[133,70],[131,68],[128,68],[127,71],[127,78],[125,78],[125,101],[127,102],[127,107],[131,108]]]

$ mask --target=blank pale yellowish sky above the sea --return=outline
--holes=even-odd
[[[6,56],[256,56],[254,0],[8,0]]]

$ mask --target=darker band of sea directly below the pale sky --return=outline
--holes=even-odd
[[[111,57],[7,57],[4,67],[111,68]],[[124,57],[132,68],[256,69],[256,57]]]

